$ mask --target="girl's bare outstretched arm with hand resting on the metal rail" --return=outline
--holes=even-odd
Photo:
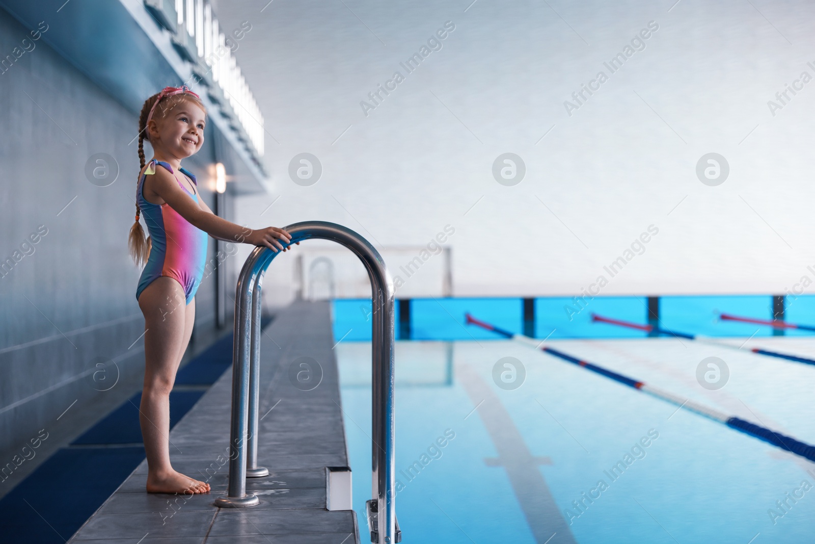
[[[148,179],[150,178],[152,178],[150,188],[153,192],[156,192],[173,210],[177,211],[178,215],[211,237],[238,243],[265,245],[275,252],[278,249],[284,249],[278,240],[283,240],[288,244],[292,239],[289,232],[282,228],[267,227],[253,230],[214,215],[209,207],[201,210],[196,202],[190,199],[189,194],[181,188],[174,175],[164,168],[156,168],[156,174],[148,175]],[[206,206],[205,203],[204,206]]]

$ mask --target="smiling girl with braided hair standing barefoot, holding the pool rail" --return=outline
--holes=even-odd
[[[204,143],[206,109],[194,92],[165,87],[144,102],[139,116],[136,222],[130,228],[130,254],[145,263],[136,299],[144,314],[144,389],[139,409],[148,459],[148,493],[206,493],[209,484],[170,465],[170,391],[187,350],[195,321],[195,294],[204,273],[207,235],[223,241],[288,249],[289,232],[240,227],[214,215],[198,194],[196,176],[181,160]],[[144,164],[143,140],[154,158]],[[145,167],[146,166],[146,167]],[[161,166],[161,167],[156,167]],[[139,223],[144,215],[150,237]],[[280,241],[284,245],[281,245]]]

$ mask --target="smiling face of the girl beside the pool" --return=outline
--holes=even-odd
[[[150,121],[151,144],[174,157],[190,157],[204,144],[206,115],[192,100],[179,100],[165,117]]]

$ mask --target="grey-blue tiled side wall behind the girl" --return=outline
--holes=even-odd
[[[59,424],[75,400],[73,409],[117,394],[104,391],[117,374],[138,382],[144,353],[144,321],[135,299],[140,271],[127,250],[139,173],[133,141],[138,113],[42,40],[15,58],[29,30],[0,9],[0,59],[12,55],[0,73],[0,263],[13,262],[0,273],[2,465],[38,430]],[[206,138],[184,166],[215,209],[208,168],[216,148],[227,173],[234,157],[222,142],[216,145],[213,129]],[[149,159],[149,144],[144,148]],[[95,153],[107,153],[118,165],[117,179],[107,187],[86,175]],[[222,215],[231,219],[231,198],[226,201]],[[214,250],[210,239],[210,258]],[[228,267],[234,276],[235,263]],[[193,342],[214,338],[215,277],[207,277],[196,294]],[[227,285],[234,285],[231,277]],[[97,366],[103,362],[108,366]],[[130,393],[121,395],[124,400]]]

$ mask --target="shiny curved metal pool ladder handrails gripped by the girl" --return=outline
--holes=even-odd
[[[372,335],[372,496],[366,502],[371,542],[402,540],[395,510],[394,458],[394,285],[379,252],[356,232],[336,223],[304,221],[284,228],[291,244],[310,238],[333,240],[353,251],[368,270],[373,303]],[[232,412],[229,486],[215,506],[255,506],[258,497],[246,493],[246,478],[265,476],[258,467],[258,391],[260,360],[261,285],[272,259],[280,254],[256,247],[240,271],[235,298],[235,339],[232,347]],[[251,326],[250,326],[251,324]]]

